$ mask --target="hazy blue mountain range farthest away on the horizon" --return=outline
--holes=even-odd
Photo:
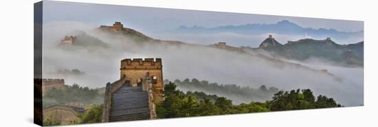
[[[331,36],[333,38],[347,38],[349,36],[363,36],[364,31],[359,32],[341,32],[335,29],[325,29],[319,28],[314,29],[311,27],[301,27],[296,23],[292,23],[287,20],[279,21],[275,24],[245,24],[245,25],[225,25],[218,27],[200,27],[194,25],[192,27],[187,27],[181,25],[175,30],[170,32],[183,32],[183,33],[221,33],[221,32],[232,32],[238,34],[266,34],[266,33],[276,33],[276,34],[300,34],[308,35],[313,38],[324,38],[324,36]]]

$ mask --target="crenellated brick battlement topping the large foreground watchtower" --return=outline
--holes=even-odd
[[[121,60],[122,69],[162,69],[162,58],[126,58]]]

